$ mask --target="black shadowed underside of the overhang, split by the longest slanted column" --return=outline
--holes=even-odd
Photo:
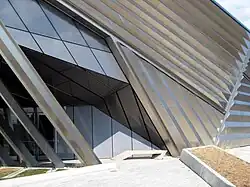
[[[22,47],[22,50],[62,106],[95,106],[103,102],[106,96],[128,85],[25,47]],[[21,106],[36,106],[3,58],[0,64],[0,78]],[[0,101],[0,106],[5,104]]]

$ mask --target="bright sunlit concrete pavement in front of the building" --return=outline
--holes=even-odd
[[[98,169],[98,167],[100,169]],[[95,169],[91,169],[95,168]],[[101,169],[102,168],[102,169]],[[179,159],[136,159],[0,182],[1,187],[209,187]]]

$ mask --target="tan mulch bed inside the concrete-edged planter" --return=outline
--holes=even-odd
[[[250,163],[215,147],[197,148],[192,153],[235,186],[250,187]]]

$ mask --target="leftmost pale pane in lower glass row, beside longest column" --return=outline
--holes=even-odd
[[[41,52],[30,33],[11,28],[8,31],[19,45]]]

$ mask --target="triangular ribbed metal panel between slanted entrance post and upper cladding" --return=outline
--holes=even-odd
[[[213,138],[217,135],[216,127],[220,126],[220,120],[223,118],[213,120],[211,114],[213,112],[213,115],[220,116],[220,114],[215,114],[220,112],[128,48],[120,46],[120,49],[126,65],[131,68],[127,76],[132,77],[134,73],[142,87],[143,92],[135,86],[135,80],[129,80],[138,98],[142,101],[146,111],[148,108],[145,103],[152,103],[155,113],[162,120],[165,131],[171,137],[169,141],[172,140],[177,150],[213,144]],[[121,66],[124,67],[124,65]],[[143,98],[143,94],[147,95],[149,101]],[[150,115],[150,112],[147,112]],[[154,118],[152,115],[150,117]],[[161,130],[158,129],[158,131]],[[162,136],[162,139],[167,139],[167,137]],[[171,150],[169,146],[171,145],[167,145]]]

